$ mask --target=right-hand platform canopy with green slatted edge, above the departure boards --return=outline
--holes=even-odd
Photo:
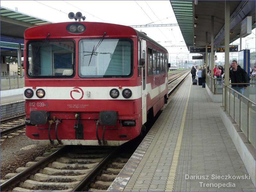
[[[241,22],[252,16],[252,29],[255,28],[256,1],[230,2],[230,36],[232,43],[240,38]],[[226,1],[170,1],[178,21],[185,43],[189,46],[205,46],[211,44],[212,16],[214,20],[214,46],[224,45],[225,40],[225,4]],[[195,26],[196,24],[196,26]],[[194,44],[195,42],[195,44]]]

